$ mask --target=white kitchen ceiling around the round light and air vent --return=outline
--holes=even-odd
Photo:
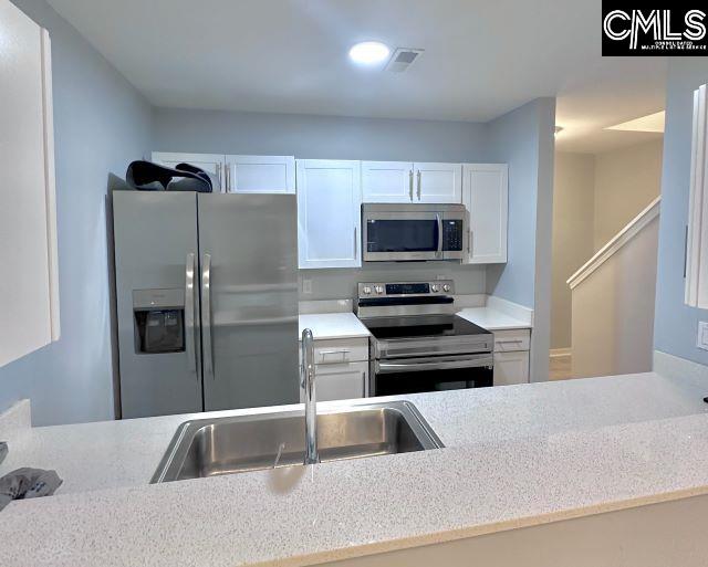
[[[558,96],[560,149],[657,135],[602,128],[664,108],[666,61],[601,57],[587,0],[49,0],[156,106],[489,120]],[[348,62],[379,40],[406,73]]]

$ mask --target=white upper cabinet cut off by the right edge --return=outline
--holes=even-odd
[[[708,309],[708,87],[694,91],[684,302]]]

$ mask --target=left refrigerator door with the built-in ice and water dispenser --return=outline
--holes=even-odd
[[[197,197],[113,192],[124,418],[202,410]]]

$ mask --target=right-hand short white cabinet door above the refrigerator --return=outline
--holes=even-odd
[[[229,193],[294,193],[292,156],[226,156]]]

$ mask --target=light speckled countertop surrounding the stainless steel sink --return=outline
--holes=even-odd
[[[0,473],[65,485],[2,512],[2,564],[308,565],[705,494],[704,395],[655,374],[415,395],[445,449],[152,486],[189,416],[31,429]]]

